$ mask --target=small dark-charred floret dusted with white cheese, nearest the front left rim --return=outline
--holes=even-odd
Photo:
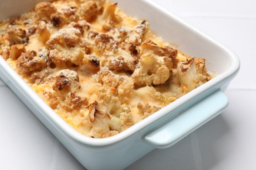
[[[66,90],[75,92],[80,88],[79,76],[77,72],[70,69],[60,70],[53,80],[53,90]]]

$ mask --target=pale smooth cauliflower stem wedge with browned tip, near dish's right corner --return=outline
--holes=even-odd
[[[177,65],[181,87],[183,92],[188,93],[202,84],[196,73],[196,66],[193,59],[179,62]]]

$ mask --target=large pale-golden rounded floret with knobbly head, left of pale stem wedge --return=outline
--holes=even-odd
[[[163,58],[149,53],[140,57],[140,67],[132,75],[135,85],[139,87],[163,84],[170,76]]]

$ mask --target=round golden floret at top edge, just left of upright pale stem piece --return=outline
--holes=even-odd
[[[81,18],[87,20],[87,22],[91,22],[95,20],[96,16],[98,15],[98,10],[98,5],[95,1],[87,1],[81,4],[79,14]]]

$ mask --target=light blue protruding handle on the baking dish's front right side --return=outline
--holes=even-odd
[[[221,90],[217,90],[163,126],[148,133],[144,141],[155,148],[168,148],[220,114],[227,105],[226,95]]]

